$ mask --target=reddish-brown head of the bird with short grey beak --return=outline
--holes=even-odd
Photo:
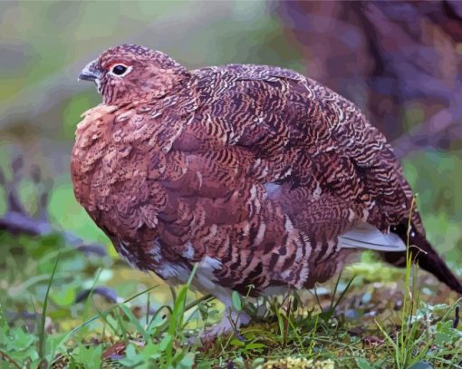
[[[188,76],[166,53],[122,44],[88,63],[79,80],[96,83],[104,103],[120,104],[162,97]]]

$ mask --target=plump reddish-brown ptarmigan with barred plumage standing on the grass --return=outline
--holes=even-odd
[[[197,264],[193,286],[232,310],[233,290],[310,288],[364,248],[402,267],[409,233],[419,265],[462,293],[384,136],[322,84],[265,65],[188,71],[133,44],[80,79],[103,102],[77,126],[75,196],[133,267],[177,284]]]

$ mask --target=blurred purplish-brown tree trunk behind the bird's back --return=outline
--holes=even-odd
[[[356,102],[399,156],[460,146],[462,2],[283,0],[274,12],[306,73]]]

